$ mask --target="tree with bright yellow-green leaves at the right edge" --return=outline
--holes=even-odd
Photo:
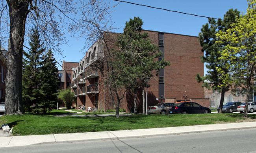
[[[225,45],[224,49],[220,51],[219,59],[228,61],[225,66],[231,69],[228,76],[221,67],[218,67],[217,70],[221,74],[221,78],[227,83],[246,88],[245,117],[248,117],[249,93],[254,89],[253,81],[256,68],[256,0],[248,0],[248,2],[247,13],[237,17],[230,29],[219,31],[216,34],[217,41],[215,42]],[[231,79],[227,79],[228,77]]]

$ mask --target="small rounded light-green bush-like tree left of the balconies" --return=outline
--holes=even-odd
[[[65,107],[67,109],[70,109],[72,107],[72,104],[76,99],[74,93],[71,92],[71,89],[60,90],[58,93],[58,98],[64,101]]]

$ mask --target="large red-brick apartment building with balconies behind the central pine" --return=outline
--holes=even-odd
[[[209,99],[204,99],[204,88],[202,83],[196,80],[196,74],[204,74],[204,64],[201,63],[200,56],[203,56],[198,37],[172,34],[157,31],[147,31],[152,43],[159,46],[164,58],[170,61],[171,65],[161,69],[158,76],[150,78],[148,81],[148,106],[160,102],[180,102],[186,100],[200,103],[202,106],[210,106]],[[116,47],[115,40],[107,37],[108,45]],[[83,105],[87,109],[114,109],[109,96],[108,85],[104,83],[106,70],[104,64],[98,69],[104,57],[104,45],[102,40],[93,44],[85,57],[79,62],[78,67],[72,73],[72,91],[77,96],[77,105]],[[92,67],[92,65],[94,65]],[[122,91],[122,90],[121,90]],[[120,108],[125,108],[130,112],[134,107],[134,96],[128,92],[121,101]],[[137,92],[137,108],[142,112],[142,94]],[[87,110],[88,111],[88,110]]]

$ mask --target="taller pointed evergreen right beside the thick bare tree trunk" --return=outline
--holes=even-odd
[[[45,51],[40,42],[38,30],[32,29],[30,36],[30,50],[24,51],[23,73],[22,73],[22,101],[25,108],[30,108],[33,104],[37,105],[41,101],[40,78],[42,54]]]

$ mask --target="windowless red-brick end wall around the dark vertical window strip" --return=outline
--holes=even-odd
[[[158,45],[158,32],[146,31],[149,38]],[[196,74],[204,74],[204,64],[200,56],[203,56],[197,37],[164,33],[164,58],[171,65],[165,67],[165,97],[182,99],[204,98],[202,83],[197,83]],[[148,82],[148,88],[156,97],[158,95],[158,78]]]

